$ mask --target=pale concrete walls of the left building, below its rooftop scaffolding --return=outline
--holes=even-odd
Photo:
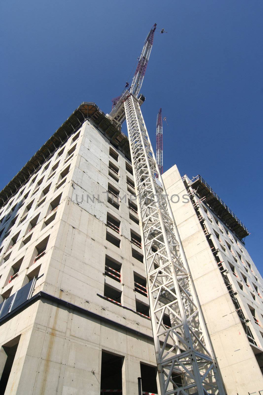
[[[134,284],[134,274],[143,282],[145,271],[132,256],[142,250],[131,241],[131,230],[140,237],[136,202],[129,208],[131,172],[131,162],[87,120],[1,211],[2,300],[34,277],[31,297],[42,292],[1,323],[2,370],[4,350],[20,337],[3,393],[99,394],[102,350],[122,358],[123,394],[138,394],[141,364],[155,368],[151,322],[138,312],[148,298]],[[120,198],[106,193],[109,186]],[[105,257],[119,267],[120,281],[115,271],[106,275]]]

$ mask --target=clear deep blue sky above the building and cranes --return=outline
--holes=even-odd
[[[110,111],[157,23],[141,90],[152,143],[162,107],[164,170],[202,175],[252,233],[246,247],[262,273],[262,0],[0,7],[0,189],[81,102]]]

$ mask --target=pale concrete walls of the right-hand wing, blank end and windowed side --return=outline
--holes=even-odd
[[[168,196],[179,197],[178,202],[174,196],[170,203],[226,392],[261,394],[262,277],[244,243],[205,200],[200,201],[187,176],[182,179],[173,166],[163,180]],[[191,199],[185,203],[187,196]],[[226,286],[222,272],[231,288]],[[229,288],[235,293],[245,323],[237,314]],[[246,333],[247,327],[252,337]]]

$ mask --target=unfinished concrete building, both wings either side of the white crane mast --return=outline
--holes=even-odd
[[[174,166],[164,182],[227,393],[258,394],[263,281],[246,228],[215,214],[199,177]],[[158,392],[134,193],[129,141],[94,103],[0,192],[0,394],[138,395],[138,377]]]

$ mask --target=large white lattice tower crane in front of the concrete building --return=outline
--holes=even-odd
[[[156,24],[132,80],[108,115],[126,118],[155,345],[160,395],[224,395],[177,226],[145,126],[139,96]],[[155,175],[158,175],[158,179]],[[170,317],[170,325],[163,322]]]

